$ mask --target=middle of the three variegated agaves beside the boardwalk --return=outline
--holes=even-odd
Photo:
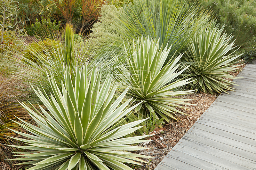
[[[167,117],[177,120],[176,113],[183,114],[175,107],[185,108],[181,105],[187,103],[183,102],[185,99],[175,96],[192,91],[173,91],[177,87],[188,84],[189,79],[174,80],[187,69],[186,67],[177,71],[180,65],[177,63],[182,55],[177,58],[172,57],[168,63],[164,64],[171,49],[172,47],[167,48],[167,46],[163,49],[163,45],[159,49],[159,40],[153,41],[149,36],[145,40],[143,36],[141,41],[139,38],[137,42],[133,40],[133,44],[127,50],[125,48],[124,54],[128,66],[117,67],[122,75],[117,79],[124,82],[126,86],[131,84],[127,96],[136,96],[136,101],[143,101],[135,109],[135,112],[139,111],[141,119],[143,115],[145,117],[147,111],[155,112],[167,122],[169,122]]]

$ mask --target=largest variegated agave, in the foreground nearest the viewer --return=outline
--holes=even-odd
[[[145,142],[148,136],[124,137],[141,127],[134,127],[144,120],[131,122],[118,127],[118,121],[140,103],[128,107],[130,100],[119,105],[129,87],[116,99],[117,85],[111,85],[112,75],[108,74],[100,88],[100,70],[95,67],[91,78],[87,79],[87,69],[77,68],[75,83],[70,72],[64,69],[65,84],[58,88],[52,75],[48,75],[52,87],[50,97],[37,87],[34,91],[47,108],[41,112],[27,109],[37,126],[19,119],[16,122],[29,134],[12,130],[26,138],[17,138],[28,146],[9,145],[32,152],[14,152],[17,158],[25,160],[21,164],[32,165],[28,170],[132,170],[124,163],[145,162],[140,157],[148,156],[128,152],[146,149],[130,144]],[[123,138],[121,138],[123,137]],[[147,148],[148,149],[148,148]]]

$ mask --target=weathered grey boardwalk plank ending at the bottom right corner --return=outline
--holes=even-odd
[[[212,146],[209,146],[209,145],[206,145],[206,144],[203,144],[203,143],[199,143],[199,142],[191,141],[191,140],[186,140],[186,139],[182,138],[182,139],[180,139],[179,144],[183,144],[183,145],[195,148],[197,150],[209,153],[209,154],[214,155],[214,156],[217,155],[221,159],[228,160],[230,162],[234,162],[238,165],[244,166],[244,167],[241,167],[241,168],[239,167],[240,169],[244,169],[244,168],[248,169],[248,168],[255,167],[255,162],[254,161],[248,161],[247,159],[245,159],[243,157],[231,154],[231,153],[226,152],[226,151],[222,151],[218,148],[214,148]],[[240,170],[240,169],[238,169],[238,170]]]

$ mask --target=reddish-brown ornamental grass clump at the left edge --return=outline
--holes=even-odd
[[[6,78],[6,72],[0,69],[0,162],[8,159],[8,152],[18,151],[16,148],[10,148],[6,144],[16,144],[17,141],[10,139],[10,136],[15,135],[14,132],[8,128],[15,130],[21,130],[22,128],[12,122],[10,119],[18,121],[17,117],[23,120],[30,121],[30,116],[27,111],[20,106],[16,101],[18,98],[23,97],[22,94],[17,91],[16,84],[17,78]],[[16,134],[17,135],[17,134]]]

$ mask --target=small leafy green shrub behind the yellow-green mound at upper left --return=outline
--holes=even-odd
[[[51,21],[50,18],[42,18],[41,21],[36,18],[35,24],[31,25],[34,35],[40,38],[53,38],[56,32],[60,31],[60,21]]]

